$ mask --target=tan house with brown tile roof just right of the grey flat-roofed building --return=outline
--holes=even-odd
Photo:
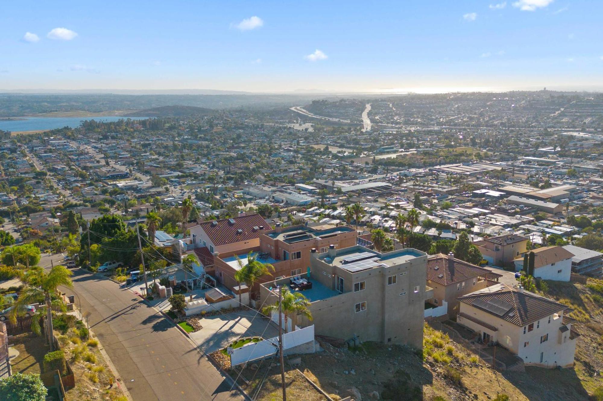
[[[427,260],[427,285],[434,289],[434,297],[428,302],[435,306],[448,305],[448,315],[459,311],[457,298],[496,284],[502,277],[491,270],[458,260],[452,253],[429,256]]]

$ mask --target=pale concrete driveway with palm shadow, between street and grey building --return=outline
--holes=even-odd
[[[229,346],[241,337],[272,338],[279,328],[256,311],[245,310],[200,319],[203,329],[191,333],[191,339],[206,353]]]

